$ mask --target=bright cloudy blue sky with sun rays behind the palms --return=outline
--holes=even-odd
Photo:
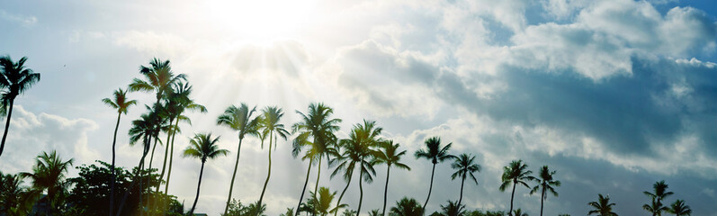
[[[343,120],[339,138],[372,120],[407,150],[411,171],[391,170],[389,206],[403,196],[425,201],[431,164],[413,152],[439,136],[453,143],[452,154],[473,154],[482,166],[478,184],[465,185],[468,209],[506,210],[502,168],[523,159],[533,172],[557,170],[562,182],[546,215],[587,214],[598,193],[609,194],[620,215],[645,215],[642,192],[660,180],[675,192],[668,202],[684,199],[694,215],[717,215],[712,1],[7,0],[0,30],[0,55],[26,56],[41,74],[15,100],[4,173],[29,171],[52,149],[76,166],[110,161],[116,112],[101,99],[160,58],[188,77],[193,98],[209,110],[189,113],[193,124],[182,126],[177,149],[211,132],[231,151],[207,163],[198,212],[218,215],[226,201],[238,138],[216,125],[224,109],[278,105],[291,125],[296,111],[323,102]],[[129,97],[154,102],[151,94]],[[141,157],[126,133],[142,106],[121,117],[119,166]],[[268,215],[294,208],[300,196],[308,164],[291,157],[290,141],[273,152]],[[244,141],[236,199],[258,199],[267,154],[258,139]],[[169,193],[187,207],[200,166],[175,157],[180,171]],[[319,184],[340,191],[345,182],[329,178],[332,170],[324,163]],[[364,184],[362,214],[381,208],[386,167],[376,172]],[[452,173],[450,163],[437,165],[429,212],[458,199]],[[357,183],[343,200],[352,208]],[[515,206],[537,215],[540,197],[528,191],[516,189]]]

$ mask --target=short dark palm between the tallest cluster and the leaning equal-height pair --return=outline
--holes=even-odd
[[[214,159],[220,156],[227,156],[229,150],[220,149],[217,145],[220,137],[211,139],[211,133],[195,134],[194,138],[189,141],[189,147],[184,149],[182,156],[199,158],[202,161],[202,168],[199,171],[199,182],[197,183],[197,195],[194,197],[194,203],[192,209],[189,211],[189,215],[193,215],[194,208],[197,207],[197,201],[199,201],[199,189],[202,185],[202,174],[204,174],[204,163],[207,159]]]

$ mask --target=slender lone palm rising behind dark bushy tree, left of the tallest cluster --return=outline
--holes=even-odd
[[[120,129],[120,118],[122,114],[127,114],[127,109],[130,108],[131,105],[137,104],[135,100],[127,100],[127,92],[121,88],[115,90],[113,95],[113,100],[106,97],[102,99],[104,104],[107,104],[113,109],[117,109],[117,124],[114,125],[114,136],[112,137],[112,166],[110,166],[110,172],[112,173],[112,180],[110,182],[110,216],[112,216],[112,210],[114,209],[114,182],[116,177],[114,174],[114,157],[115,144],[117,143],[117,130]]]

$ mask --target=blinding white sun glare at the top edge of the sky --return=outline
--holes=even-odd
[[[246,39],[266,42],[291,38],[311,21],[314,0],[211,0],[207,13],[220,28]]]

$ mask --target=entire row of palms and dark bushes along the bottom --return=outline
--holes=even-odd
[[[24,67],[26,58],[14,63],[9,57],[0,58],[2,77],[0,88],[2,94],[3,111],[7,110],[4,134],[7,134],[12,114],[12,105],[15,96],[22,94],[32,84],[40,80],[40,74],[34,73]],[[191,124],[186,112],[207,112],[206,107],[192,99],[193,86],[189,85],[184,74],[175,74],[168,60],[157,58],[149,62],[148,66],[141,66],[139,78],[134,78],[124,90],[119,88],[112,97],[104,98],[103,103],[112,107],[117,114],[117,121],[112,138],[111,163],[97,161],[97,165],[77,166],[79,177],[67,178],[67,169],[73,160],[63,160],[54,151],[49,154],[42,152],[36,158],[35,166],[31,172],[16,175],[2,176],[0,184],[0,215],[193,215],[202,188],[202,175],[204,166],[211,159],[227,157],[229,152],[218,145],[219,137],[210,133],[194,134],[189,146],[181,151],[182,157],[196,158],[202,164],[197,179],[196,195],[188,211],[184,211],[184,203],[176,201],[176,197],[168,191],[173,171],[175,156],[175,137],[182,133],[180,122]],[[129,92],[145,92],[156,96],[153,103],[144,105],[143,112],[137,119],[131,121],[128,131],[130,145],[139,144],[142,156],[138,165],[129,170],[115,165],[115,148],[117,133],[122,116],[137,105],[137,101],[127,97]],[[536,175],[529,170],[522,160],[511,161],[504,167],[500,176],[501,184],[496,185],[501,192],[510,193],[509,209],[507,211],[478,211],[466,210],[462,203],[463,189],[468,183],[478,184],[476,175],[481,171],[476,157],[471,153],[452,154],[453,143],[444,144],[440,137],[431,137],[424,141],[423,148],[413,152],[416,159],[426,159],[431,163],[431,180],[427,184],[426,201],[418,202],[414,198],[403,197],[395,201],[391,207],[388,200],[391,168],[399,168],[394,172],[409,172],[412,167],[403,163],[408,153],[402,150],[399,143],[382,135],[383,129],[376,121],[363,120],[355,123],[349,131],[348,137],[338,138],[336,132],[340,130],[338,124],[341,119],[333,116],[334,110],[324,103],[310,103],[306,112],[296,111],[300,121],[291,125],[282,123],[285,112],[277,106],[266,106],[257,110],[255,106],[246,103],[230,105],[217,117],[216,123],[235,130],[238,134],[236,147],[236,160],[232,177],[228,185],[227,202],[222,215],[264,215],[266,204],[264,193],[270,184],[272,174],[272,152],[278,147],[277,143],[289,141],[291,155],[305,161],[307,166],[306,177],[300,194],[299,202],[295,207],[287,208],[284,216],[300,215],[356,215],[365,212],[369,215],[527,215],[524,210],[515,208],[514,197],[517,189],[525,187],[528,193],[537,194],[541,202],[540,215],[543,211],[543,202],[551,194],[558,196],[557,188],[560,181],[555,179],[556,171],[549,166],[541,166]],[[5,136],[4,135],[4,136]],[[3,137],[3,147],[4,147]],[[240,161],[240,152],[244,139],[259,139],[261,148],[268,148],[268,163],[266,178],[262,193],[256,202],[248,205],[233,199],[232,193],[237,177]],[[161,168],[153,167],[157,144],[162,154]],[[109,144],[107,144],[109,147]],[[164,149],[163,149],[164,148]],[[0,154],[2,154],[0,148]],[[233,150],[234,148],[232,148]],[[148,157],[149,156],[149,157]],[[148,157],[148,158],[147,158]],[[147,159],[149,160],[147,162]],[[435,167],[441,163],[450,163],[454,172],[450,177],[461,181],[460,195],[456,201],[447,201],[440,204],[440,209],[429,213],[426,205],[430,202],[435,178]],[[345,187],[338,191],[320,186],[319,178],[321,167],[329,166],[333,171],[329,177],[340,176],[345,180]],[[262,165],[263,166],[263,165]],[[309,188],[309,176],[313,166],[316,168],[316,184]],[[372,184],[373,177],[383,171],[377,168],[385,167],[386,183],[383,190],[383,204],[381,208],[362,211],[363,184]],[[413,167],[429,168],[429,167]],[[182,172],[187,172],[182,170]],[[326,174],[324,174],[326,175]],[[357,176],[354,176],[357,175]],[[27,180],[30,186],[25,186]],[[359,202],[342,202],[349,186],[358,184]],[[358,183],[355,183],[358,182]],[[643,208],[653,215],[662,212],[671,212],[676,215],[689,215],[691,210],[682,200],[665,206],[663,202],[671,195],[667,191],[668,184],[663,182],[654,185],[654,191],[645,192],[651,202]],[[370,192],[366,192],[370,193]],[[524,192],[518,192],[524,193]],[[338,196],[336,196],[338,195]],[[336,200],[336,202],[335,202]],[[597,202],[589,202],[592,210],[589,214],[617,215],[612,208],[614,203],[609,197],[598,195]],[[286,206],[273,208],[286,208]],[[354,210],[355,209],[355,210]]]

